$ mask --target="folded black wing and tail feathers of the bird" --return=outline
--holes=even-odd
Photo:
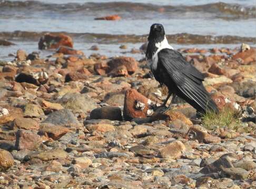
[[[202,73],[187,62],[178,51],[162,49],[158,53],[158,58],[159,64],[166,69],[179,92],[182,93],[180,96],[185,96],[188,102],[199,111],[219,112],[215,102],[203,86]]]

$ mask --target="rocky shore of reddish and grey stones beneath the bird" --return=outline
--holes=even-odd
[[[156,110],[145,59],[85,57],[64,34],[38,48],[56,50],[0,60],[0,188],[256,188],[255,48],[179,49],[221,110],[203,118]]]

